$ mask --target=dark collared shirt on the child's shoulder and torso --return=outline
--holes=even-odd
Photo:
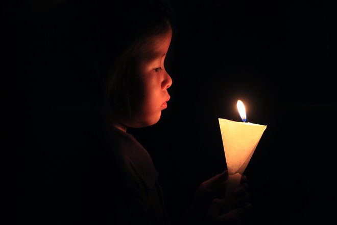
[[[81,214],[86,224],[170,224],[151,156],[130,133],[103,130],[83,165]],[[75,219],[76,221],[76,219]]]

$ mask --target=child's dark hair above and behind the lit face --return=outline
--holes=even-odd
[[[137,63],[134,58],[147,40],[172,29],[173,16],[160,0],[106,2],[97,11],[97,65],[103,95],[113,110],[130,113],[128,88]]]

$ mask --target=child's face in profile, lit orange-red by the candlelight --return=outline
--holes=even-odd
[[[172,79],[164,68],[164,60],[170,47],[172,30],[155,36],[141,47],[136,73],[131,79],[131,117],[121,121],[127,127],[146,127],[157,123],[161,110],[170,99],[167,88]]]

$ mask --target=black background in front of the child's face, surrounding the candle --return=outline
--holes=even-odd
[[[336,27],[323,1],[174,1],[171,100],[135,130],[172,212],[226,168],[218,118],[267,125],[245,171],[252,224],[325,224],[332,216]],[[170,66],[168,66],[170,65]],[[159,132],[160,130],[160,132]],[[159,150],[158,150],[159,149]],[[179,202],[179,203],[178,203]]]

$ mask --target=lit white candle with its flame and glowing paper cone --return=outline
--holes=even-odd
[[[246,122],[246,109],[242,101],[238,100],[236,106],[243,122],[219,118],[229,174],[225,193],[226,204],[223,211],[229,209],[232,192],[239,186],[241,176],[252,158],[264,130],[267,128],[266,125]]]

